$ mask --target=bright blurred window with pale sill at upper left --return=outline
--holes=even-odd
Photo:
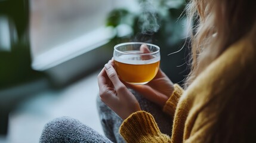
[[[46,70],[107,43],[113,30],[107,14],[135,1],[31,0],[32,68]]]

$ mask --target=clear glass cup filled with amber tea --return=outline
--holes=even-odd
[[[127,83],[144,85],[158,72],[160,48],[143,42],[119,43],[114,47],[113,58],[120,79]]]

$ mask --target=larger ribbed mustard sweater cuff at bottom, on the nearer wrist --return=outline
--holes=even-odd
[[[146,111],[131,114],[124,120],[119,132],[127,142],[150,141],[150,136],[161,133],[153,116]]]

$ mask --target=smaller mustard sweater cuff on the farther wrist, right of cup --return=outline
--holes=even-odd
[[[178,85],[174,85],[174,92],[172,92],[171,97],[166,101],[163,111],[171,116],[174,116],[178,100],[180,100],[181,95],[183,94],[183,89]]]

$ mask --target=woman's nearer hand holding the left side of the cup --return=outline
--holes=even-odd
[[[105,64],[98,74],[98,87],[101,101],[122,119],[127,119],[130,114],[141,110],[134,95],[119,80],[118,74],[113,68],[113,60]]]

